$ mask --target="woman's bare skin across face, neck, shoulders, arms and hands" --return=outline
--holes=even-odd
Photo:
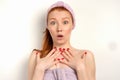
[[[56,48],[53,48],[44,58],[40,58],[39,51],[33,50],[29,58],[28,80],[43,80],[46,69],[68,67],[76,70],[78,80],[95,80],[93,53],[88,50],[75,49],[70,44],[70,35],[73,29],[70,13],[58,10],[50,12],[47,29],[52,36],[53,47]],[[60,39],[57,37],[59,34],[63,35]],[[59,48],[65,50],[61,52]],[[64,59],[56,60],[57,58]]]

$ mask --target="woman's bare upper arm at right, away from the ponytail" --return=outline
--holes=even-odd
[[[86,68],[88,72],[88,76],[90,80],[95,80],[96,79],[96,67],[95,67],[95,59],[94,55],[91,51],[86,51]]]

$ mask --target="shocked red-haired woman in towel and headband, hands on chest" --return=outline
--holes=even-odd
[[[47,13],[42,50],[34,49],[28,65],[28,80],[95,80],[93,53],[70,44],[75,27],[73,10],[58,1]]]

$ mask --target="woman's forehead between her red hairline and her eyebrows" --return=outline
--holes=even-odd
[[[69,11],[67,10],[53,10],[48,14],[48,19],[50,18],[64,18],[64,17],[68,17],[71,18],[71,14]]]

